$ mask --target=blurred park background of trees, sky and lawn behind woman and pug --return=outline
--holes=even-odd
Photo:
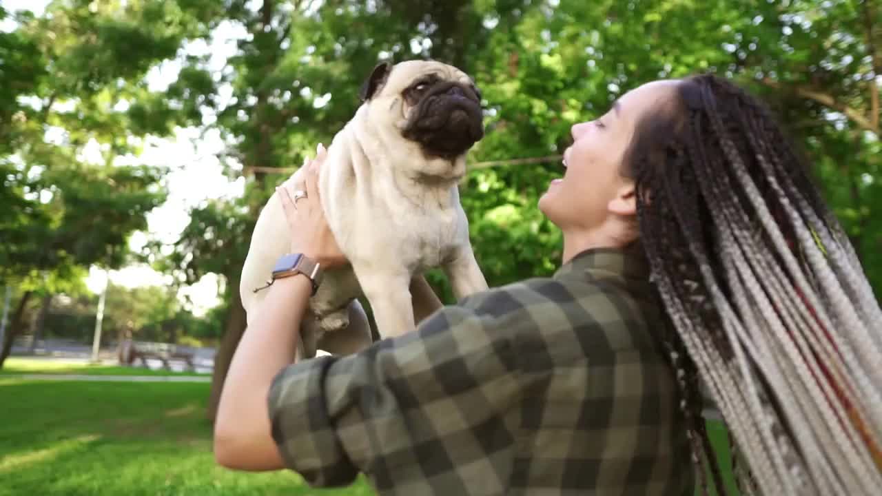
[[[882,0],[0,0],[0,494],[370,493],[219,470],[210,431],[259,208],[411,58],[482,89],[491,286],[557,267],[535,205],[573,123],[714,71],[781,116],[878,294]]]

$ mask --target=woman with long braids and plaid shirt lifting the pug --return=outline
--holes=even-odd
[[[683,494],[694,463],[721,493],[700,378],[744,489],[882,485],[882,312],[766,109],[713,76],[656,81],[572,136],[539,202],[564,235],[553,278],[294,365],[310,281],[276,282],[228,372],[218,461],[390,494]],[[313,233],[292,252],[333,267],[310,169],[306,198],[283,195]]]

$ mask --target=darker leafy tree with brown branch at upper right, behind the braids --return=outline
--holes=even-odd
[[[793,2],[763,5],[757,14],[756,49],[744,51],[746,37],[733,46],[742,71],[795,123],[878,296],[882,7],[873,0]]]

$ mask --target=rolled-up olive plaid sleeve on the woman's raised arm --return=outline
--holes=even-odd
[[[348,357],[283,369],[269,394],[273,440],[313,486],[377,486],[443,477],[513,442],[505,411],[519,403],[506,331],[467,306],[445,307],[415,332]],[[402,473],[403,472],[403,473]],[[437,481],[436,481],[437,484]]]

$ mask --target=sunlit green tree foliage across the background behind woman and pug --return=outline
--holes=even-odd
[[[424,57],[459,65],[482,88],[487,135],[471,162],[552,157],[473,169],[461,186],[491,285],[559,264],[560,233],[536,203],[562,173],[553,157],[572,124],[643,82],[717,71],[765,96],[789,126],[882,287],[878,2],[59,0],[48,12],[14,14],[20,28],[0,34],[5,277],[125,263],[127,237],[164,198],[165,171],[117,167],[116,157],[137,163],[142,138],[176,126],[220,132],[219,158],[230,177],[245,176],[245,194],[199,205],[175,243],[142,253],[176,286],[223,276],[224,308],[188,324],[217,336],[259,208],[287,176],[250,168],[302,163],[352,116],[379,59]],[[218,26],[243,31],[224,66],[187,51]],[[176,79],[150,88],[146,73],[173,59]],[[63,139],[45,139],[50,126]],[[82,159],[92,141],[101,165]],[[450,301],[444,277],[429,278]]]

